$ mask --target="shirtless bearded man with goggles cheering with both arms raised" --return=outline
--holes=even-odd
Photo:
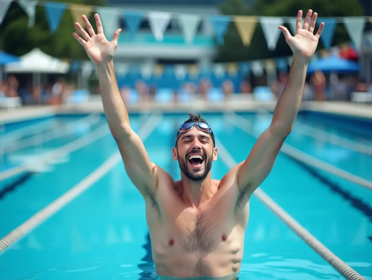
[[[317,48],[324,23],[314,35],[317,14],[309,10],[303,26],[302,11],[298,12],[295,36],[279,26],[294,55],[291,71],[271,125],[259,137],[247,159],[232,168],[221,181],[212,179],[212,161],[217,160],[213,132],[200,116],[190,115],[180,126],[173,148],[173,159],[179,161],[182,171],[181,180],[174,181],[150,161],[141,139],[129,124],[112,62],[121,30],[116,30],[109,42],[97,14],[97,34],[86,16],[82,18],[89,33],[75,23],[83,38],[77,33],[73,35],[97,66],[110,130],[129,178],[144,197],[157,274],[235,277],[243,257],[250,196],[269,174],[291,132],[307,65]]]

